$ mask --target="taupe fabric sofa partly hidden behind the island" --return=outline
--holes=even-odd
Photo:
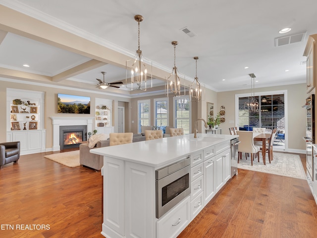
[[[132,142],[144,141],[145,136],[141,134],[133,134]],[[109,138],[106,140],[98,141],[95,145],[95,148],[106,147],[109,146],[110,140]],[[96,155],[90,153],[91,148],[89,148],[89,143],[83,143],[79,145],[79,162],[81,166],[86,166],[95,171],[100,171],[104,166],[104,157],[101,155]]]

